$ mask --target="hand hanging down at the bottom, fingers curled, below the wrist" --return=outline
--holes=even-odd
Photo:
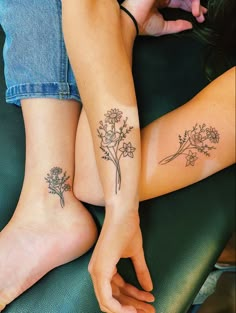
[[[138,281],[145,291],[126,284],[117,273],[121,258],[131,258]],[[149,291],[152,280],[145,261],[138,212],[114,217],[108,212],[92,255],[89,272],[103,312],[153,313],[147,302],[154,301]]]

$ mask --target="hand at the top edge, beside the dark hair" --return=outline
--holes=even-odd
[[[141,35],[162,36],[178,33],[192,28],[186,20],[166,21],[159,8],[179,8],[192,12],[196,20],[204,22],[207,9],[200,5],[200,0],[126,0],[123,4],[136,18]]]

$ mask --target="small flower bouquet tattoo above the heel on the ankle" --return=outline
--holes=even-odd
[[[50,173],[45,177],[46,182],[48,183],[49,193],[53,195],[58,195],[60,197],[61,207],[65,206],[65,199],[63,193],[71,190],[71,186],[66,184],[66,181],[70,178],[67,176],[66,172],[60,177],[62,174],[62,169],[60,167],[53,167],[50,170]]]

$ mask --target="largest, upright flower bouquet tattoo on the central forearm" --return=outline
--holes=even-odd
[[[103,151],[102,158],[111,161],[115,166],[115,193],[121,188],[121,168],[120,160],[122,157],[134,157],[134,148],[131,142],[124,142],[126,136],[133,129],[128,126],[126,117],[122,119],[123,113],[118,109],[107,111],[105,121],[99,122],[97,129],[98,137],[101,139],[100,149]]]

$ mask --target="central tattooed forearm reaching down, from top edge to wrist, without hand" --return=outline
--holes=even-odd
[[[63,29],[93,137],[106,207],[137,210],[139,119],[119,7],[110,0],[64,1]],[[112,109],[122,116],[109,119]]]

